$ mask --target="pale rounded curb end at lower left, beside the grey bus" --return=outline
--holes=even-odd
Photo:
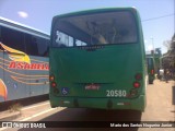
[[[19,118],[20,116],[21,116],[20,111],[14,111],[14,112],[3,111],[0,112],[0,121],[12,121]]]

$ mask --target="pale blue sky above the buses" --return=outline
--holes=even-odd
[[[175,33],[175,0],[0,0],[0,16],[50,34],[55,15],[117,7],[135,7],[139,11],[147,51],[167,51],[163,43]]]

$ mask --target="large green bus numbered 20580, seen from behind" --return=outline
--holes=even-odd
[[[145,108],[145,52],[135,8],[57,15],[51,24],[51,107]]]

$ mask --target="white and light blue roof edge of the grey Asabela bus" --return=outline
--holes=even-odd
[[[27,33],[31,35],[35,35],[35,36],[39,36],[39,37],[44,37],[44,38],[49,39],[49,35],[47,33],[39,31],[39,29],[36,29],[36,28],[33,28],[27,25],[11,21],[11,20],[8,20],[5,17],[0,16],[0,25],[2,25],[4,27],[16,29],[20,32],[24,32],[24,33]]]

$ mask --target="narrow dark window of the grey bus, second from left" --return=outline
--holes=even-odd
[[[32,56],[38,56],[36,37],[26,34],[25,35],[26,53]]]

